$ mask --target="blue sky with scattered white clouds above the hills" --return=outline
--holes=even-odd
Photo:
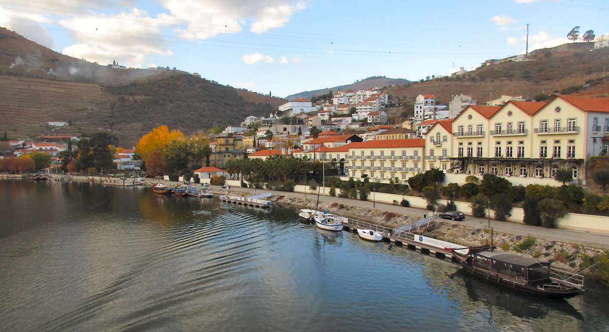
[[[273,96],[421,80],[609,33],[607,0],[0,0],[0,26],[99,64],[176,67]]]

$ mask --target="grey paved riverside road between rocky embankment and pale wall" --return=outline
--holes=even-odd
[[[96,180],[99,180],[99,177],[96,177]],[[155,179],[146,179],[150,182],[157,182]],[[130,181],[127,180],[127,181]],[[172,181],[161,181],[163,183],[168,183],[171,185],[179,184],[178,182]],[[214,189],[221,189],[220,186],[209,186]],[[252,191],[252,189],[241,188],[241,187],[231,187],[231,191]],[[270,190],[261,190],[258,189],[256,192],[272,192],[273,195],[284,195],[289,197],[298,197],[305,198],[304,193],[300,192],[283,192],[283,191],[270,191]],[[307,195],[307,198],[314,197],[315,195]],[[373,198],[373,197],[368,197]],[[326,196],[326,202],[329,203],[339,203],[343,205],[350,206],[358,206],[360,208],[365,209],[377,209],[379,211],[387,211],[393,212],[401,215],[412,215],[412,216],[420,216],[423,217],[423,214],[429,214],[429,211],[425,209],[418,208],[403,208],[402,206],[389,205],[385,203],[375,203],[370,201],[361,201],[361,200],[351,200],[350,198],[341,198],[341,197],[331,197]],[[466,217],[465,220],[461,223],[465,226],[470,226],[473,228],[484,228],[484,226],[488,226],[488,219],[479,219],[474,217]],[[556,242],[565,242],[565,243],[573,243],[577,245],[585,245],[592,246],[595,248],[609,249],[609,234],[597,233],[597,232],[585,232],[585,231],[576,231],[572,229],[564,229],[564,228],[541,228],[535,226],[528,226],[522,223],[515,222],[498,222],[496,220],[491,219],[490,225],[498,232],[504,232],[507,234],[513,235],[532,235],[537,237],[538,239],[544,239],[548,241],[556,241]]]

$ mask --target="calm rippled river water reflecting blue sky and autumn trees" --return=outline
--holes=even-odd
[[[407,248],[150,188],[0,180],[3,331],[609,331]]]

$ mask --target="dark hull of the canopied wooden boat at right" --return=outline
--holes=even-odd
[[[515,282],[509,279],[505,279],[495,273],[488,273],[485,270],[474,268],[471,263],[468,263],[468,256],[459,254],[458,252],[454,252],[454,257],[459,261],[463,269],[473,274],[473,276],[480,277],[482,279],[488,280],[490,282],[496,283],[501,286],[509,287],[515,290],[524,291],[526,293],[535,294],[538,296],[548,297],[548,298],[566,298],[576,296],[583,292],[579,288],[568,287],[565,286],[564,289],[558,288],[540,288],[537,286],[526,285],[524,283]]]

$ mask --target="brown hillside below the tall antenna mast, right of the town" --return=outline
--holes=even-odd
[[[609,63],[609,49],[574,52],[555,47],[537,50],[530,58],[532,61],[482,66],[457,77],[400,85],[385,89],[385,92],[408,103],[412,103],[421,93],[434,94],[442,104],[448,104],[452,95],[461,93],[485,102],[490,100],[492,86],[493,98],[501,95],[533,98],[537,93],[549,94],[569,87],[582,87],[586,82],[602,79],[604,66]],[[606,69],[609,70],[609,67]],[[593,89],[602,90],[601,87]]]

